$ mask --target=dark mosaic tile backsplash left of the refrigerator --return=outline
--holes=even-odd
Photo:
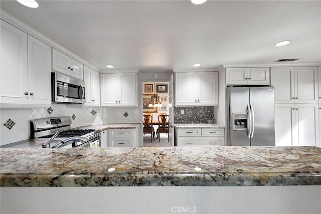
[[[181,110],[184,110],[184,114],[181,114]],[[207,123],[210,116],[216,122],[213,106],[174,107],[174,123]]]

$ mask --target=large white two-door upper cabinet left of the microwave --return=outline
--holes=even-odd
[[[2,107],[51,104],[48,45],[1,21],[1,60]]]

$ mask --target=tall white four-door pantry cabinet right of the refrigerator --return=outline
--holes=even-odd
[[[276,146],[320,146],[317,72],[317,67],[271,68]]]

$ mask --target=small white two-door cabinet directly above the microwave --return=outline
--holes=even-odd
[[[83,80],[83,65],[69,56],[52,49],[52,70]]]

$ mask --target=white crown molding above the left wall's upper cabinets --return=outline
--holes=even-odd
[[[33,29],[32,27],[30,27],[26,23],[22,22],[21,20],[17,19],[16,17],[14,17],[13,15],[9,14],[8,12],[4,11],[3,9],[1,9],[0,18],[3,21],[15,26],[16,28],[24,31],[25,33],[27,33],[27,34],[35,37],[36,39],[42,41],[43,43],[46,43],[47,45],[51,46],[52,48],[57,49],[58,51],[60,51],[60,52],[62,52],[64,54],[68,55],[69,57],[79,61],[80,63],[86,65],[87,67],[89,67],[89,68],[91,68],[93,70],[96,70],[96,71],[100,71],[100,69],[98,69],[96,66],[94,66],[91,63],[87,62],[86,60],[83,60],[82,58],[78,57],[77,55],[75,55],[74,53],[69,51],[68,49],[66,49],[63,46],[59,45],[58,43],[56,43],[55,41],[53,41],[49,37],[46,37],[45,35],[43,35],[39,31]]]

